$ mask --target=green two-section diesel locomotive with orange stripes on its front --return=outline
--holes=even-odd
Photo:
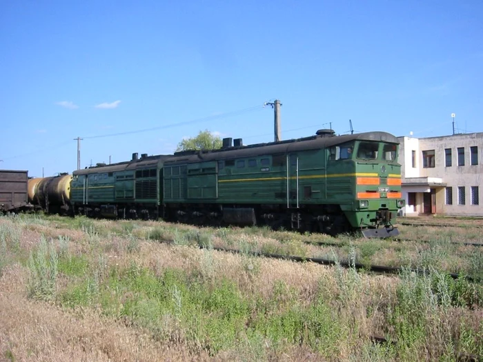
[[[198,224],[269,225],[366,237],[398,234],[404,205],[399,141],[386,132],[242,144],[176,152],[73,172],[76,213],[163,217]]]

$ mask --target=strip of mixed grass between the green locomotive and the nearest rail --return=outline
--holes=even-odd
[[[460,272],[476,280],[483,280],[483,253],[475,247],[455,245],[455,240],[464,241],[471,237],[473,230],[461,228],[406,228],[401,227],[403,235],[417,232],[417,241],[400,242],[380,239],[362,239],[354,235],[340,235],[337,238],[324,234],[309,234],[287,231],[272,231],[265,227],[252,228],[195,228],[191,225],[172,224],[152,221],[95,221],[86,217],[38,217],[31,216],[32,223],[54,223],[57,227],[81,230],[86,234],[88,243],[99,245],[102,238],[127,238],[130,250],[137,248],[138,239],[174,243],[175,245],[198,245],[203,248],[231,248],[242,252],[264,252],[270,254],[296,255],[299,257],[326,257],[334,250],[337,259],[347,261],[351,248],[355,248],[355,260],[364,265],[401,266],[413,268],[435,268],[442,272]],[[44,219],[42,219],[44,218]],[[13,217],[15,224],[22,228],[29,224],[28,216]],[[426,230],[426,231],[425,231]],[[427,234],[433,232],[433,234]],[[478,230],[480,231],[480,230]],[[44,232],[44,231],[42,231]],[[52,236],[50,230],[45,232]],[[132,237],[130,237],[132,235]],[[476,235],[476,234],[475,234]],[[475,236],[473,235],[473,236]],[[416,238],[417,239],[417,238]],[[1,241],[1,240],[0,240]],[[317,245],[328,241],[334,246]],[[123,247],[125,247],[124,245]],[[339,245],[339,248],[337,248]]]

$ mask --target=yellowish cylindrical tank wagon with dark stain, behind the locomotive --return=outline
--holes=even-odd
[[[40,208],[47,213],[68,214],[70,181],[72,181],[72,175],[67,173],[30,179],[28,180],[28,199],[35,208]]]

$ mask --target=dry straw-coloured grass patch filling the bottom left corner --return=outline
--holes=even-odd
[[[32,301],[26,270],[10,268],[0,279],[0,360],[5,361],[206,361],[183,345],[156,341],[92,310],[66,312]]]

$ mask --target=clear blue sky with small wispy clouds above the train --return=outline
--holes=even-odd
[[[482,132],[482,19],[480,0],[3,0],[0,168],[72,172],[78,136],[81,167],[205,129],[272,141],[275,99],[282,139],[349,119],[433,137],[453,112]]]

